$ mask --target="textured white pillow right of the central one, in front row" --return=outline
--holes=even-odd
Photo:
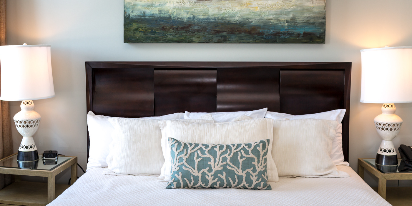
[[[324,119],[274,121],[272,156],[279,176],[348,177],[329,156],[338,124]]]

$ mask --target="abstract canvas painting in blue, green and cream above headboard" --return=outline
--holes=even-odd
[[[124,42],[325,43],[326,0],[124,0]]]

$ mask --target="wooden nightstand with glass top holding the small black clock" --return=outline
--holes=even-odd
[[[71,166],[71,184],[77,179],[77,157],[59,156],[57,164],[44,165],[39,155],[37,169],[20,169],[17,153],[0,159],[0,174],[14,175],[14,183],[0,190],[0,204],[44,206],[70,185],[55,183],[56,175]],[[47,183],[21,181],[21,175],[47,177]]]

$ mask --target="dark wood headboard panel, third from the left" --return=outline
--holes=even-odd
[[[278,68],[217,68],[218,112],[279,111]]]

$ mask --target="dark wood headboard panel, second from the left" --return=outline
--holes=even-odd
[[[216,70],[155,70],[155,116],[216,112]]]

